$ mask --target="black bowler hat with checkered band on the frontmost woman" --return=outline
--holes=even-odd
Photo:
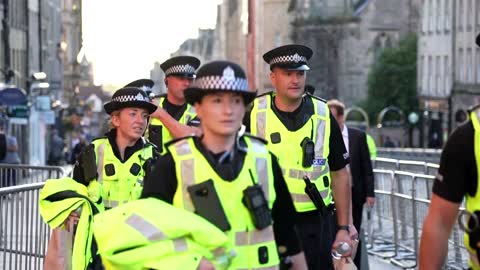
[[[257,96],[256,92],[248,89],[242,67],[230,61],[213,61],[201,66],[197,78],[184,93],[187,102],[194,104],[204,95],[217,91],[241,93],[245,104]]]

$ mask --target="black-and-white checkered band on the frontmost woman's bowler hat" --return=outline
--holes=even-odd
[[[248,91],[248,82],[244,78],[235,78],[232,80],[222,76],[205,76],[197,78],[193,82],[193,87],[213,90]]]

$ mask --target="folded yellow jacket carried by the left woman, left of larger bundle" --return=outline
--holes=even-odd
[[[62,227],[70,213],[80,209],[73,251],[73,270],[84,270],[93,262],[91,220],[98,209],[87,197],[87,187],[71,178],[49,179],[40,191],[40,215],[52,228]],[[94,251],[93,251],[94,252]]]

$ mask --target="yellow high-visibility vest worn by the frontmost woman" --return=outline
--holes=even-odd
[[[178,179],[173,205],[194,212],[187,187],[211,179],[231,226],[226,234],[237,253],[229,269],[275,269],[279,258],[272,225],[263,230],[255,228],[250,213],[242,202],[243,190],[255,182],[261,185],[266,201],[272,208],[276,196],[272,156],[258,138],[243,138],[247,143],[247,154],[239,175],[233,181],[225,181],[218,175],[196,148],[192,137],[168,145]]]

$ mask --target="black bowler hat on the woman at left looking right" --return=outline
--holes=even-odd
[[[147,94],[137,87],[124,87],[117,90],[110,102],[103,105],[108,114],[123,108],[142,108],[149,114],[153,113],[157,106],[150,103]]]

